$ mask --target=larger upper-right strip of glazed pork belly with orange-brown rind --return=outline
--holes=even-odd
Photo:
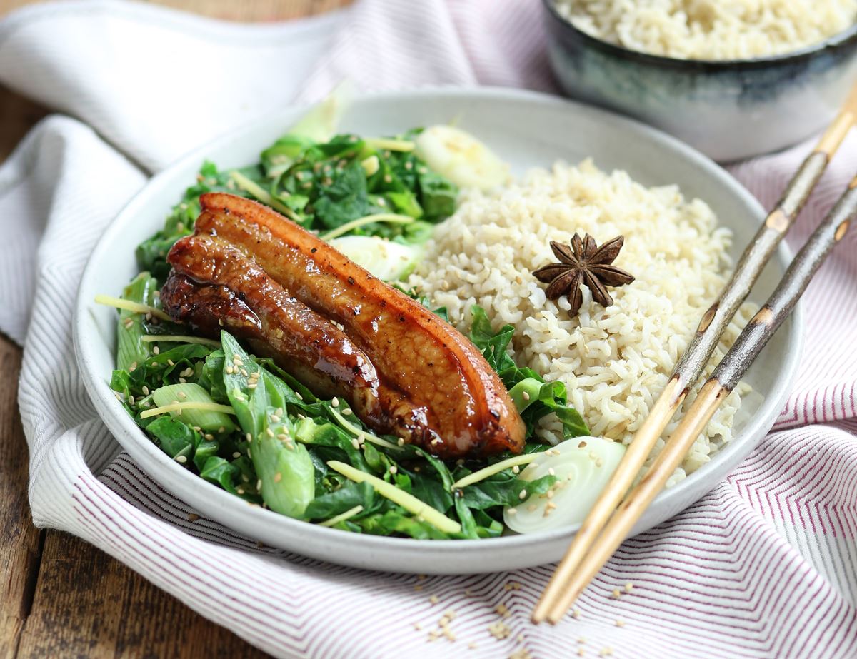
[[[240,249],[287,297],[339,324],[369,359],[392,424],[361,416],[355,405],[370,427],[448,458],[523,448],[524,424],[505,387],[476,347],[448,323],[268,207],[223,194],[203,195],[201,207],[196,237],[217,237]],[[228,288],[206,279],[212,273],[183,273],[178,256],[187,242],[177,243],[169,256],[177,273]],[[194,250],[204,251],[201,245]],[[248,306],[255,312],[253,303]],[[405,402],[407,413],[401,410]]]

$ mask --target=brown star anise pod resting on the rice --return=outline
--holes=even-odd
[[[574,234],[571,247],[552,240],[550,249],[554,250],[560,262],[540,267],[533,276],[548,285],[545,290],[548,299],[568,296],[572,305],[568,312],[570,315],[577,315],[584,302],[581,285],[589,286],[596,303],[609,307],[613,304],[613,297],[610,297],[607,286],[630,284],[634,280],[632,274],[611,265],[624,244],[625,237],[619,236],[598,247],[595,238],[588,233],[582,240]]]

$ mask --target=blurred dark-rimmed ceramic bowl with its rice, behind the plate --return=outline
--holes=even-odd
[[[570,96],[721,162],[824,128],[857,77],[857,0],[542,0]]]

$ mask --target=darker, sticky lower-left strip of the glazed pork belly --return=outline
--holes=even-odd
[[[409,402],[381,384],[345,332],[291,297],[240,249],[219,237],[189,236],[170,259],[161,302],[173,318],[208,336],[224,327],[247,339],[318,395],[349,401],[374,428],[392,432],[411,415]]]

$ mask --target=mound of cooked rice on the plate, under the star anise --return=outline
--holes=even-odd
[[[531,272],[555,261],[550,240],[567,243],[575,231],[589,232],[599,244],[625,236],[615,264],[637,279],[610,289],[615,303],[607,309],[584,288],[583,308],[570,318],[566,298],[548,300]],[[496,195],[471,193],[437,228],[409,283],[446,307],[462,331],[470,327],[474,304],[487,310],[494,329],[512,324],[518,365],[564,382],[592,434],[627,443],[726,283],[730,240],[710,207],[686,201],[675,186],[647,189],[626,172],[607,174],[590,160],[576,167],[558,163]],[[713,363],[750,315],[745,306]],[[747,389],[726,399],[673,480],[708,462],[732,438],[740,393]],[[552,442],[561,438],[555,416],[538,432]]]

